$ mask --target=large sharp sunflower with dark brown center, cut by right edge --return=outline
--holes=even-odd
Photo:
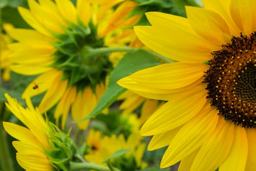
[[[160,167],[256,170],[256,1],[202,1],[187,18],[146,13],[135,32],[148,48],[175,60],[119,84],[166,100],[141,128],[149,150],[166,149]]]

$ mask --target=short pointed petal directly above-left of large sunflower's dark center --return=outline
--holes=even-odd
[[[190,26],[206,40],[219,46],[230,41],[228,25],[218,13],[198,7],[186,7],[186,14]]]

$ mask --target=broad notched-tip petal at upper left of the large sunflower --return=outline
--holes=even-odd
[[[135,33],[144,45],[167,58],[198,63],[211,59],[209,52],[221,48],[197,35],[186,18],[160,12],[146,15],[153,26],[136,26]]]

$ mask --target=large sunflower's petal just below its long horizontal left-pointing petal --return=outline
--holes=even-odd
[[[141,127],[143,136],[155,135],[184,124],[199,113],[206,102],[207,92],[201,85],[182,93],[173,94]]]

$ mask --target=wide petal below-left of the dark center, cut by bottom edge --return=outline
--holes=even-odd
[[[216,170],[225,161],[233,137],[234,124],[220,117],[216,129],[199,149],[190,170]]]

